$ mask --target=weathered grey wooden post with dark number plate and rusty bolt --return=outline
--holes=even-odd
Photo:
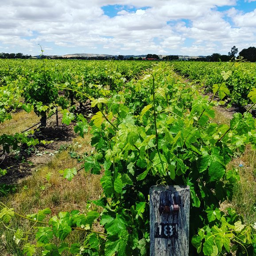
[[[189,186],[150,188],[150,256],[188,256]]]

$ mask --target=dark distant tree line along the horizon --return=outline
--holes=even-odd
[[[219,53],[213,53],[209,56],[199,56],[199,58],[185,58],[190,61],[205,61],[205,62],[228,62],[236,58],[238,49],[236,46],[233,46],[228,53],[228,55],[221,55]],[[145,56],[145,55],[144,55]],[[249,47],[243,49],[238,54],[237,58],[243,58],[249,62],[256,62],[256,48]],[[31,55],[23,55],[22,53],[0,53],[0,58],[22,58],[27,59],[31,58]],[[147,54],[145,57],[134,57],[134,56],[94,56],[94,57],[85,57],[85,56],[72,56],[72,57],[62,57],[62,56],[46,56],[40,55],[36,58],[54,58],[54,59],[82,59],[82,60],[163,60],[163,61],[174,61],[174,60],[185,60],[184,58],[179,58],[178,55],[168,55],[160,58],[157,54]]]

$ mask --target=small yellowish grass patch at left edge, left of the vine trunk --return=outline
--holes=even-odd
[[[0,125],[0,135],[9,134],[13,135],[16,132],[23,132],[27,128],[30,128],[32,125],[39,122],[39,117],[35,112],[27,113],[24,110],[13,113],[11,120],[4,121]]]

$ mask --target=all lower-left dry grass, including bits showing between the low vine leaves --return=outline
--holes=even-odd
[[[81,163],[70,156],[70,152],[76,152],[81,155],[84,152],[92,150],[90,146],[90,136],[85,138],[75,138],[72,145],[51,159],[45,166],[33,172],[33,175],[24,180],[15,194],[9,194],[2,198],[2,202],[9,207],[13,207],[16,212],[26,216],[30,213],[36,213],[39,209],[50,208],[52,215],[57,215],[61,211],[71,211],[78,209],[82,213],[88,211],[88,200],[98,199],[102,194],[101,175],[92,175],[85,173],[82,169],[74,176],[72,181],[67,181],[61,177],[59,170],[76,167],[81,168]],[[47,173],[51,173],[50,179],[46,179]],[[100,210],[98,206],[92,205],[90,209]],[[21,228],[23,230],[31,229],[27,220],[14,218],[12,229]],[[95,229],[102,231],[101,227],[95,226]],[[21,245],[15,244],[13,232],[0,227],[0,248],[3,254],[0,255],[23,255]],[[67,243],[74,243],[82,240],[85,234],[83,232],[72,232],[66,239]],[[31,237],[33,238],[33,236]],[[33,241],[31,241],[33,243]],[[54,243],[58,244],[56,240]],[[10,254],[11,253],[11,254]],[[67,255],[67,254],[63,254]]]

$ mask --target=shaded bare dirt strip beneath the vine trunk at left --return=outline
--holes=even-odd
[[[0,168],[8,169],[6,175],[0,177],[0,184],[17,184],[31,175],[32,171],[38,169],[45,163],[48,163],[57,151],[63,145],[72,143],[76,134],[74,126],[61,123],[62,116],[58,117],[58,126],[56,125],[55,115],[47,120],[47,126],[40,128],[33,136],[39,140],[52,140],[50,144],[40,144],[29,149],[22,147],[18,152],[12,152],[2,156],[0,159]]]

